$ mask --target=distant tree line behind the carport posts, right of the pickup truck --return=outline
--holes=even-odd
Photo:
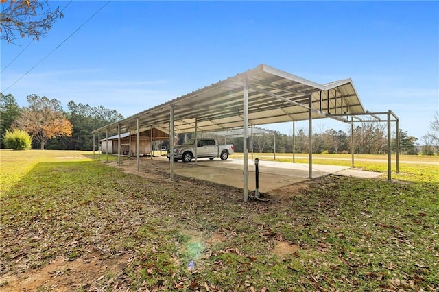
[[[399,151],[401,154],[416,155],[439,155],[439,114],[436,113],[434,121],[430,124],[431,132],[421,138],[422,146],[418,146],[418,139],[410,136],[407,131],[399,129]],[[309,135],[306,128],[300,128],[294,135],[294,151],[296,153],[309,152]],[[209,136],[208,134],[205,136]],[[214,136],[214,135],[210,135]],[[274,136],[276,143],[274,143]],[[215,137],[222,141],[224,137]],[[235,145],[235,151],[243,151],[242,138],[228,138],[227,143]],[[352,145],[353,143],[353,145]],[[275,146],[276,145],[276,146]],[[353,146],[353,147],[352,147]],[[276,149],[274,149],[276,147]],[[388,153],[387,125],[384,123],[359,123],[348,133],[343,130],[325,130],[312,134],[313,153],[351,153],[355,154],[386,154]],[[392,153],[396,153],[396,133],[391,137]],[[292,153],[293,135],[281,134],[273,131],[273,134],[253,137],[253,150],[260,153]]]

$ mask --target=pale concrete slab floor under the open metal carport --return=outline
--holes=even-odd
[[[167,158],[166,158],[167,160]],[[313,164],[313,178],[335,174],[360,178],[378,178],[381,173],[359,171],[351,167]],[[235,188],[244,188],[244,164],[241,159],[229,158],[226,161],[200,158],[195,163],[175,162],[174,173],[187,178],[196,178]],[[259,191],[268,193],[276,188],[309,180],[307,164],[259,160]],[[248,160],[248,189],[255,188],[254,161]]]

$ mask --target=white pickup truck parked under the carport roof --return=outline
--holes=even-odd
[[[201,138],[197,140],[196,156],[197,158],[215,157],[221,160],[227,160],[230,154],[233,154],[235,147],[233,144],[218,145],[216,139]],[[183,162],[191,162],[195,157],[195,139],[191,139],[182,145],[174,146],[174,161],[182,160]],[[171,150],[167,149],[167,158],[171,160]]]

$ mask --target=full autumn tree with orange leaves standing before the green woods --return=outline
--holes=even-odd
[[[29,95],[27,102],[29,106],[23,109],[21,116],[15,121],[15,126],[32,134],[41,149],[44,149],[45,143],[51,138],[71,136],[72,125],[62,114],[60,101]]]

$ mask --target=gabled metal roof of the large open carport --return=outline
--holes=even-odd
[[[188,93],[100,127],[93,133],[108,130],[135,132],[140,127],[169,130],[170,108],[174,106],[174,132],[213,132],[244,126],[244,84],[248,86],[248,124],[265,125],[340,114],[364,114],[364,108],[351,79],[318,84],[271,66],[261,64],[254,69],[229,77],[210,86]]]

